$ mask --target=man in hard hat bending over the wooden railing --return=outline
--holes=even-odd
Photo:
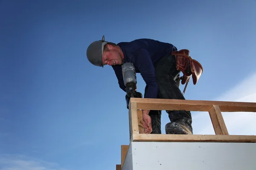
[[[122,64],[133,63],[137,73],[143,77],[146,87],[144,98],[185,99],[174,77],[180,73],[175,66],[177,48],[166,42],[138,39],[131,42],[102,40],[92,42],[87,48],[87,59],[93,65],[111,65],[119,87],[125,91],[122,78]],[[192,117],[189,111],[166,111],[171,122],[165,126],[166,134],[193,134]],[[161,111],[143,110],[145,133],[161,134]]]

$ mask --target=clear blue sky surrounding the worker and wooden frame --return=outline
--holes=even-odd
[[[249,78],[256,73],[256,0],[148,2],[0,0],[1,170],[120,164],[120,145],[129,144],[125,92],[110,66],[95,67],[86,57],[102,35],[189,49],[204,72],[197,85],[189,83],[186,99],[256,102],[256,76]],[[144,94],[140,74],[137,80]],[[192,112],[194,133],[212,133],[203,114]],[[254,123],[235,128],[241,120],[248,125],[248,116],[233,115],[224,117],[228,130],[255,133]],[[165,111],[162,119],[165,133]]]

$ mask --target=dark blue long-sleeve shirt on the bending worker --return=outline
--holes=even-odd
[[[124,54],[124,63],[132,62],[136,73],[140,73],[146,85],[148,85],[148,90],[144,98],[157,98],[158,84],[155,77],[154,64],[172,51],[177,51],[177,48],[170,43],[151,39],[119,42],[117,45],[121,48]],[[125,91],[122,66],[112,65],[112,68],[118,79],[119,87]]]

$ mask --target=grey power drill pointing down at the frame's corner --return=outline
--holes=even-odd
[[[142,98],[142,94],[136,91],[137,88],[137,79],[136,79],[136,71],[133,63],[126,62],[122,65],[122,76],[124,80],[124,84],[126,87],[126,105],[129,109],[129,102],[131,97]]]

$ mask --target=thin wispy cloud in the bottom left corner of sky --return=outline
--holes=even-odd
[[[0,170],[66,170],[53,162],[23,155],[0,155]]]

